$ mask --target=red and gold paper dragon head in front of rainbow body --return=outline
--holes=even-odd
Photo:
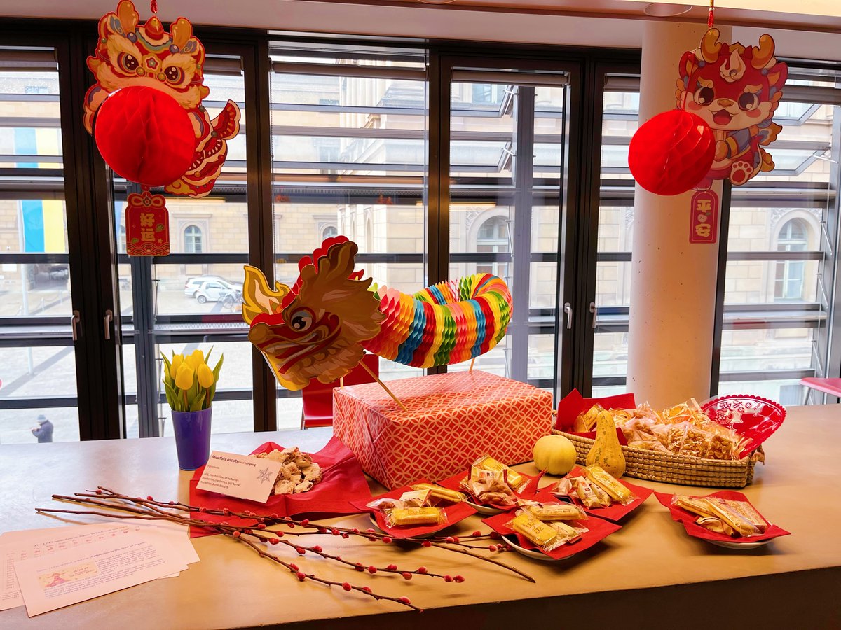
[[[372,280],[354,271],[357,244],[344,236],[325,240],[313,256],[299,262],[290,289],[268,287],[265,276],[246,267],[243,318],[248,339],[272,366],[278,381],[299,390],[316,378],[330,383],[362,360],[361,343],[379,332],[385,317]]]

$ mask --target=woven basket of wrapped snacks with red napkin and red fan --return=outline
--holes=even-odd
[[[764,462],[761,444],[785,419],[784,407],[758,396],[722,396],[703,405],[691,399],[662,411],[647,404],[606,408],[577,391],[570,396],[574,402],[558,405],[553,433],[573,443],[579,464],[595,444],[597,419],[606,414],[616,427],[626,475],[683,486],[747,486],[756,463]]]

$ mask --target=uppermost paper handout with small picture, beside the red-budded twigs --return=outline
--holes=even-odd
[[[161,537],[129,532],[14,564],[29,617],[185,569]]]

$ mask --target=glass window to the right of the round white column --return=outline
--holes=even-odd
[[[733,186],[719,393],[801,404],[826,375],[838,221],[838,76],[790,64],[775,168]]]

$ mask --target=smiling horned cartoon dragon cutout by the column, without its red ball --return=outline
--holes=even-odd
[[[773,117],[788,66],[775,59],[774,39],[765,34],[759,46],[746,48],[718,37],[718,29],[709,29],[701,45],[680,59],[678,108],[703,118],[716,139],[715,159],[696,190],[718,179],[741,186],[771,171],[774,160],[763,147],[782,129]]]

